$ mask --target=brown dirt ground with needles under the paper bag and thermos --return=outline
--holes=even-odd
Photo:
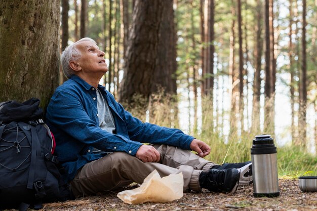
[[[233,195],[222,193],[184,193],[184,196],[170,203],[126,204],[116,197],[117,192],[102,196],[78,198],[63,203],[44,204],[42,211],[83,210],[317,210],[317,192],[302,192],[298,179],[280,179],[280,197],[255,198],[253,186],[239,187]],[[132,188],[136,188],[132,187]]]

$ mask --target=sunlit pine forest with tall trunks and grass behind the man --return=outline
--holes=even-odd
[[[204,140],[218,163],[250,160],[270,134],[280,175],[315,175],[316,12],[316,0],[2,0],[0,101],[45,108],[61,51],[91,37],[100,83],[141,120]]]

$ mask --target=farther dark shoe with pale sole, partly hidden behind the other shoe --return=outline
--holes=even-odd
[[[252,162],[238,162],[238,163],[224,163],[222,165],[214,165],[211,168],[217,170],[224,170],[227,168],[237,168],[240,169],[240,180],[239,185],[251,185],[253,183],[252,176]]]

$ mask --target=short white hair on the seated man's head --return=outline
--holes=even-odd
[[[78,48],[76,46],[81,41],[91,41],[92,43],[96,44],[96,41],[93,40],[92,38],[85,37],[85,38],[82,38],[82,39],[76,41],[75,43],[73,43],[65,48],[65,50],[63,51],[63,53],[61,55],[61,64],[62,64],[62,69],[63,69],[64,75],[67,78],[70,78],[70,76],[74,74],[74,71],[70,68],[69,63],[71,61],[80,59],[82,56],[81,51],[78,50]]]

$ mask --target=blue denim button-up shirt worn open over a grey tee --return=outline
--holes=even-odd
[[[56,154],[66,169],[65,181],[72,180],[86,163],[104,154],[95,154],[97,148],[104,152],[124,151],[136,154],[142,143],[160,143],[190,150],[192,136],[178,129],[143,123],[126,111],[101,85],[114,118],[115,133],[99,127],[96,90],[82,78],[73,75],[58,87],[47,107],[46,123],[56,140]]]

